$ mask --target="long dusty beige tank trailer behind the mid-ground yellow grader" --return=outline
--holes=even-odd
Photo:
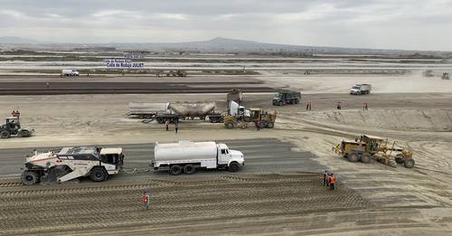
[[[159,124],[164,124],[166,120],[171,123],[181,119],[201,120],[209,119],[212,123],[222,122],[222,114],[215,112],[214,102],[171,102],[171,103],[129,103],[129,118],[144,118],[148,123],[156,120]]]

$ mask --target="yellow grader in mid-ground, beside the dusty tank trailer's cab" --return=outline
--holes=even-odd
[[[246,128],[250,122],[260,122],[260,127],[275,127],[276,114],[270,114],[262,109],[250,109],[243,116],[224,116],[223,123],[227,128],[241,127]]]

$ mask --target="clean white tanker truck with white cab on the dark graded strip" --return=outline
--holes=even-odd
[[[226,144],[181,140],[171,144],[155,143],[150,165],[155,170],[168,170],[172,175],[192,175],[199,168],[227,168],[237,172],[240,165],[245,165],[245,159],[240,151],[231,150]]]

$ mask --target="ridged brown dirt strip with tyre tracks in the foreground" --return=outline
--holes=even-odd
[[[139,203],[144,187],[151,190],[152,213],[143,211]],[[0,202],[0,229],[5,234],[88,231],[118,225],[205,222],[372,206],[353,190],[325,190],[318,175],[218,175],[177,181],[142,179],[139,184],[120,181],[107,186],[5,187],[0,188]]]

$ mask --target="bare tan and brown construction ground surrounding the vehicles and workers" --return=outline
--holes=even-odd
[[[274,86],[273,79],[263,80]],[[36,134],[0,142],[0,230],[79,235],[450,235],[452,93],[445,92],[444,85],[435,90],[438,83],[428,87],[428,93],[413,86],[402,93],[381,90],[352,96],[346,92],[348,84],[321,92],[313,80],[314,92],[304,93],[301,105],[273,107],[272,93],[245,94],[246,107],[278,111],[273,129],[228,130],[222,124],[190,120],[180,124],[178,134],[173,126],[165,131],[155,122],[127,118],[128,103],[213,100],[224,109],[225,94],[2,96],[0,114],[20,109],[21,123]],[[312,102],[311,111],[306,111],[306,101]],[[335,109],[338,101],[342,110]],[[363,111],[363,102],[368,102],[368,111]],[[414,152],[415,168],[350,163],[332,151],[343,138],[363,133],[407,146]],[[246,165],[233,174],[146,171],[155,141],[180,139],[225,142],[243,151]],[[127,171],[138,172],[111,176],[104,183],[82,178],[80,183],[20,184],[20,165],[33,148],[73,145],[123,146]],[[339,175],[337,191],[320,184],[325,169]],[[147,212],[140,203],[145,187],[153,197]]]

